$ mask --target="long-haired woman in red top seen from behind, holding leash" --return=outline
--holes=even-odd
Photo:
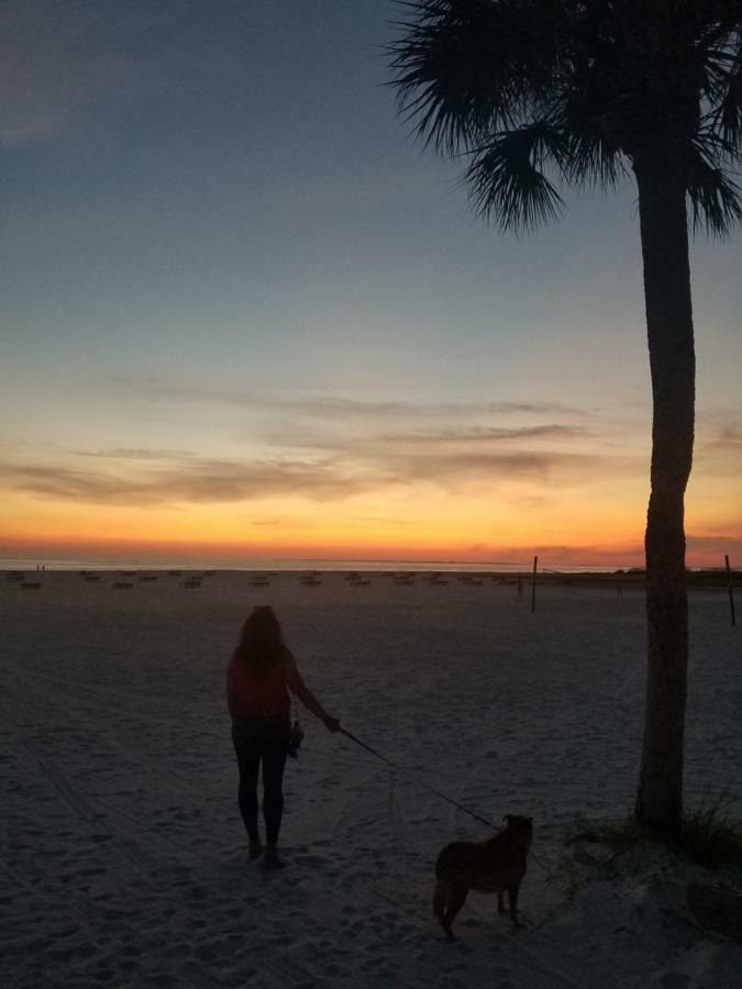
[[[284,865],[277,845],[284,813],[284,767],[291,730],[289,689],[324,722],[328,731],[340,730],[340,721],[326,713],[301,679],[294,655],[284,643],[273,608],[254,608],[230,659],[226,699],[232,715],[232,742],[240,767],[237,800],[250,840],[250,857],[263,855],[263,864],[268,869],[279,869]],[[261,763],[265,854],[257,830],[257,775]]]

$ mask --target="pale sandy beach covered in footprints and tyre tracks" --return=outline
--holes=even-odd
[[[8,987],[739,987],[742,946],[686,905],[699,867],[642,847],[584,868],[565,842],[630,810],[641,743],[641,588],[528,592],[491,577],[302,585],[281,573],[29,575],[0,582]],[[131,588],[114,589],[114,582]],[[247,862],[224,668],[270,603],[303,675],[359,738],[487,820],[528,813],[527,929],[470,894],[447,945],[433,866],[486,829],[302,712],[286,774],[288,866]],[[742,644],[723,590],[694,590],[686,801],[740,792]],[[738,810],[740,804],[738,803]]]

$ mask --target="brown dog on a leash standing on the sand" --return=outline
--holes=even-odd
[[[505,913],[508,891],[510,919],[517,927],[518,890],[528,866],[528,851],[533,837],[533,818],[506,814],[505,831],[486,842],[453,842],[441,852],[435,864],[433,912],[441,921],[446,941],[455,941],[451,925],[464,905],[470,889],[496,892],[497,909]]]

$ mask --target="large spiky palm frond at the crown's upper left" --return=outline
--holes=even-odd
[[[550,92],[558,54],[552,0],[403,0],[409,19],[388,47],[399,111],[444,155],[483,131],[514,126]]]

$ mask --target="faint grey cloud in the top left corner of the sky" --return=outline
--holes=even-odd
[[[0,5],[0,145],[65,134],[104,108],[107,121],[165,100],[182,111],[210,87],[246,85],[244,57],[220,38],[218,14],[178,0],[125,3],[5,0]],[[156,44],[153,44],[156,38]]]

